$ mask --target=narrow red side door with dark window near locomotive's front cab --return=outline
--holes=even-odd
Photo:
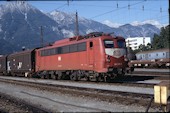
[[[93,67],[93,64],[94,64],[94,47],[93,47],[93,42],[92,41],[89,42],[88,50],[89,50],[89,52],[88,52],[89,66]]]

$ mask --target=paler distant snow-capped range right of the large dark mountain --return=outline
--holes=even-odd
[[[55,20],[59,25],[61,31],[66,37],[70,37],[74,35],[75,29],[75,14],[67,14],[61,11],[53,11],[47,14],[50,18]],[[106,21],[105,24],[109,24],[109,21]],[[153,35],[159,34],[160,29],[152,24],[141,24],[141,25],[131,25],[125,24],[118,27],[117,25],[113,25],[110,23],[110,27],[108,25],[101,24],[99,22],[89,20],[86,18],[79,17],[79,29],[80,34],[87,34],[89,32],[103,31],[103,32],[114,32],[115,35],[120,35],[123,37],[153,37]]]

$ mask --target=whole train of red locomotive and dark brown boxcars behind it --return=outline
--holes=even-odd
[[[13,76],[109,81],[125,74],[125,39],[102,32],[0,57],[0,73]]]

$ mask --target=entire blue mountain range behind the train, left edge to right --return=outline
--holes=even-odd
[[[114,32],[115,35],[150,36],[159,34],[160,30],[150,24],[133,26],[122,25],[109,27],[94,20],[78,17],[79,34],[90,32]],[[0,5],[0,54],[8,54],[41,46],[41,31],[43,28],[44,43],[54,42],[75,34],[75,14],[61,11],[51,13],[41,12],[26,2],[7,2]]]

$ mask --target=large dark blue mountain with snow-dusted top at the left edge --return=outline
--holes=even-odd
[[[0,10],[0,39],[4,45],[11,45],[12,52],[21,50],[23,46],[40,46],[40,26],[43,26],[44,42],[52,42],[63,37],[53,19],[27,3],[9,2],[1,5]],[[54,32],[53,29],[58,32]],[[5,50],[4,47],[6,46],[1,46],[0,49]]]

